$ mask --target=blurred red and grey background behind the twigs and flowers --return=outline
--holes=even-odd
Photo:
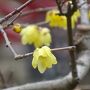
[[[25,1],[27,0],[0,0],[0,18],[22,5]],[[56,6],[55,0],[34,0],[23,10],[23,12],[40,7],[46,8],[54,6]],[[45,20],[45,14],[46,11],[31,13],[26,16],[20,17],[15,22],[23,24],[42,22]],[[53,39],[50,46],[51,48],[68,46],[66,30],[51,28],[48,24],[44,24],[41,26],[48,27],[51,30]],[[10,41],[12,42],[12,46],[17,53],[23,54],[32,52],[34,50],[33,46],[22,45],[19,34],[13,32],[11,28],[6,29],[6,32]],[[11,87],[30,82],[46,81],[64,77],[70,71],[69,53],[68,51],[56,51],[54,52],[54,55],[57,57],[58,64],[55,65],[52,69],[47,70],[44,74],[40,74],[38,70],[34,70],[32,68],[32,56],[24,58],[23,60],[15,61],[13,54],[8,48],[5,47],[4,39],[0,34],[0,87]],[[82,84],[90,83],[90,78],[88,77],[89,75],[85,77],[85,80]]]

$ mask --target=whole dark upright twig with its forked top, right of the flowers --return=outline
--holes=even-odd
[[[56,0],[57,5],[59,5],[58,7],[60,7],[60,3],[57,2],[58,0]],[[73,8],[72,5],[73,4]],[[65,13],[65,16],[67,18],[67,34],[68,34],[68,45],[69,46],[73,46],[73,36],[72,36],[72,22],[71,22],[71,17],[74,14],[74,12],[77,10],[77,5],[76,5],[76,0],[72,0],[72,4],[70,2],[68,2],[67,5],[67,12]],[[63,13],[61,13],[61,8],[58,8],[60,15],[63,15]],[[71,61],[70,61],[70,65],[71,65],[71,71],[72,71],[72,77],[74,80],[77,81],[78,83],[78,75],[77,75],[77,68],[76,68],[76,61],[75,61],[75,51],[69,51],[70,53],[70,57],[71,57]]]

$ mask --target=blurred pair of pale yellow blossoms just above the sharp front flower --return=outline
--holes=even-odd
[[[51,34],[48,28],[29,25],[21,30],[21,41],[24,45],[33,44],[36,48],[43,45],[50,46]]]

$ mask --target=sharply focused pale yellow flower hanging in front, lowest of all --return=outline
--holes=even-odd
[[[53,64],[57,64],[56,57],[51,53],[51,49],[47,46],[37,48],[33,53],[32,66],[38,68],[40,73],[44,73],[46,69],[52,68]]]

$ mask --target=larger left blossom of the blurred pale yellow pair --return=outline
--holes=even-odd
[[[22,36],[22,43],[25,44],[34,44],[37,43],[39,39],[38,26],[29,25],[22,29],[20,35]]]

